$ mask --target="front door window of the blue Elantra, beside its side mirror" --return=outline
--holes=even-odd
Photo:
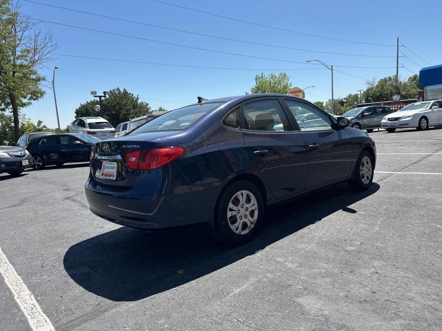
[[[299,114],[306,114],[301,120],[297,120],[301,131],[314,131],[314,130],[330,130],[331,120],[330,118],[315,107],[305,104],[303,102],[294,100],[284,100],[287,106],[292,112],[295,119]]]

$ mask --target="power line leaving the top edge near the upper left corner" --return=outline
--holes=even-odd
[[[291,49],[291,50],[302,51],[302,52],[334,54],[334,55],[344,55],[344,56],[394,57],[394,56],[390,56],[390,55],[365,55],[365,54],[335,53],[335,52],[317,51],[317,50],[313,50],[313,49],[301,49],[301,48],[293,48],[293,47],[287,47],[287,46],[281,46],[281,45],[263,44],[263,43],[259,43],[259,42],[246,41],[246,40],[233,39],[233,38],[225,38],[225,37],[220,37],[220,36],[214,36],[214,35],[211,35],[211,34],[202,34],[202,33],[199,33],[199,32],[175,29],[175,28],[170,28],[170,27],[160,26],[160,25],[155,25],[155,24],[149,24],[149,23],[144,23],[144,22],[139,22],[139,21],[132,21],[132,20],[129,20],[129,19],[122,19],[122,18],[119,18],[119,17],[101,15],[101,14],[91,13],[91,12],[88,12],[88,11],[80,11],[80,10],[76,10],[76,9],[72,9],[72,8],[65,8],[65,7],[55,6],[55,5],[51,5],[51,4],[43,4],[43,3],[37,2],[37,1],[31,1],[31,0],[23,0],[23,1],[29,2],[29,3],[32,3],[32,4],[40,4],[40,5],[47,6],[47,7],[53,7],[53,8],[64,9],[64,10],[68,10],[68,11],[75,11],[75,12],[82,13],[82,14],[88,14],[88,15],[103,17],[103,18],[107,18],[107,19],[115,19],[115,20],[122,21],[122,22],[141,24],[141,25],[145,25],[145,26],[152,26],[152,27],[156,27],[156,28],[160,28],[160,29],[166,29],[166,30],[171,30],[171,31],[183,32],[183,33],[187,33],[187,34],[195,34],[195,35],[198,35],[198,36],[209,37],[209,38],[217,38],[217,39],[228,40],[228,41],[237,41],[237,42],[242,42],[242,43],[251,44],[251,45],[260,45],[260,46],[274,47],[274,48],[281,48],[281,49]]]

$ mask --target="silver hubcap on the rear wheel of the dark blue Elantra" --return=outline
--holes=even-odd
[[[246,190],[236,192],[227,208],[227,221],[236,234],[246,234],[255,226],[258,219],[258,203],[255,196]]]

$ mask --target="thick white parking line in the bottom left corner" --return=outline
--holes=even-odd
[[[27,289],[22,278],[17,275],[14,267],[9,263],[7,257],[0,248],[0,273],[3,275],[6,285],[14,294],[15,301],[19,304],[26,315],[33,331],[54,331],[52,323],[42,312],[42,309],[35,301],[34,295]]]

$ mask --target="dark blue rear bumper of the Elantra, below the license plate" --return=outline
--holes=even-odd
[[[85,194],[95,215],[124,226],[153,230],[209,222],[221,183],[197,186],[186,185],[179,192],[174,189],[142,196],[142,190],[135,187],[127,192],[104,191],[89,178]]]

